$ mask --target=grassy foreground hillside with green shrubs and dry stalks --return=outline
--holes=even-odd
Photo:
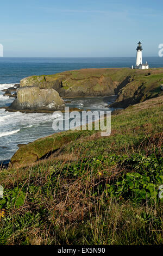
[[[109,137],[67,131],[21,147],[11,163],[26,167],[0,172],[0,243],[161,245],[162,104],[115,112]],[[45,159],[27,166],[30,154]]]

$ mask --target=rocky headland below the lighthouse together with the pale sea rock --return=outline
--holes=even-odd
[[[126,108],[161,96],[162,83],[162,68],[81,69],[23,78],[17,92],[15,88],[9,88],[5,90],[5,96],[16,97],[7,108],[8,111],[55,111],[64,107],[64,101],[60,97],[109,95],[117,95],[111,108]]]

